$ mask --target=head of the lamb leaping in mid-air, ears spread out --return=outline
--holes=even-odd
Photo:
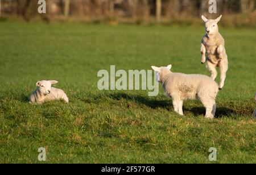
[[[217,19],[207,19],[202,15],[202,19],[205,22],[205,31],[207,35],[214,35],[218,33],[218,22],[220,21],[222,15],[220,15]]]

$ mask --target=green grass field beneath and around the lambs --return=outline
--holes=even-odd
[[[158,97],[97,90],[98,70],[110,65],[209,75],[200,64],[204,26],[0,23],[0,163],[39,163],[39,147],[46,163],[212,163],[210,147],[215,163],[256,163],[256,32],[220,31],[229,71],[209,120],[199,101],[177,115],[162,89]],[[30,105],[38,80],[59,81],[70,103]]]

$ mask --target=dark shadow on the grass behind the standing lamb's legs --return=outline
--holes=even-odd
[[[130,95],[126,93],[113,93],[109,94],[109,97],[115,100],[126,99],[127,101],[135,101],[146,105],[152,109],[163,108],[167,110],[173,110],[172,101],[170,99],[158,100],[144,97],[143,95]],[[203,107],[203,105],[202,107],[192,107],[192,109],[186,109],[186,107],[183,106],[183,110],[184,112],[189,111],[196,116],[205,115],[205,108]],[[216,109],[216,118],[230,116],[231,114],[236,114],[236,111],[227,107],[217,107]]]

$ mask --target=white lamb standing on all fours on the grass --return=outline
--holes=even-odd
[[[200,99],[206,109],[205,118],[214,118],[218,84],[201,74],[172,73],[171,67],[151,66],[156,72],[156,81],[162,84],[167,97],[172,98],[175,112],[183,115],[183,101]]]

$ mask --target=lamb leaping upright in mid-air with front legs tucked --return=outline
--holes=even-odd
[[[205,31],[207,34],[203,36],[201,41],[201,63],[206,62],[207,69],[212,73],[213,80],[217,77],[216,67],[220,67],[220,85],[221,90],[226,79],[226,72],[228,71],[228,56],[225,50],[225,41],[218,32],[218,22],[222,15],[217,19],[207,19],[202,15],[205,22]]]

